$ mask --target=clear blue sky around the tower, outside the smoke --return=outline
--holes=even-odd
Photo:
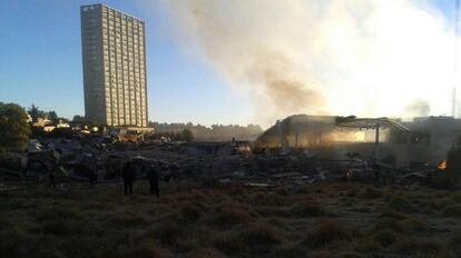
[[[149,10],[141,0],[100,2],[146,21],[149,120],[252,122],[246,97],[180,48],[159,2]],[[88,3],[95,1],[0,1],[0,101],[84,115],[79,7]],[[454,0],[429,3],[451,20]]]

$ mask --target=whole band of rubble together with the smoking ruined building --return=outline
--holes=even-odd
[[[58,182],[90,181],[94,176],[97,183],[117,185],[124,165],[131,161],[156,167],[168,182],[202,180],[296,189],[303,183],[337,180],[412,183],[461,163],[445,161],[461,137],[461,120],[449,117],[406,122],[295,115],[277,121],[254,142],[124,137],[72,131],[68,138],[31,140],[27,153],[0,156],[0,179],[8,182],[7,188],[21,186],[16,182],[40,181],[59,167]],[[451,153],[459,156],[460,151]],[[138,176],[145,175],[139,171]]]

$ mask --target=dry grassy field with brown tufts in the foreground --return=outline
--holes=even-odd
[[[0,196],[7,257],[461,257],[461,191],[137,181]]]

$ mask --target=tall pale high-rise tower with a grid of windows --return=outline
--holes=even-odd
[[[86,118],[147,127],[144,21],[104,4],[81,7],[80,17]]]

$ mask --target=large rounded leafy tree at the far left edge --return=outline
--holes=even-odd
[[[0,148],[23,151],[29,135],[30,126],[24,109],[16,103],[0,102]]]

